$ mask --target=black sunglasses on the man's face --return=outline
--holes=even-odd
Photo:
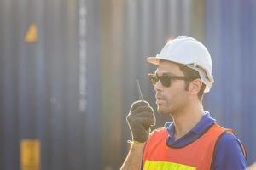
[[[153,86],[155,86],[155,84],[160,80],[161,84],[166,88],[171,86],[172,79],[192,80],[192,78],[189,78],[189,77],[172,76],[165,73],[160,77],[157,76],[156,74],[148,74],[148,77]]]

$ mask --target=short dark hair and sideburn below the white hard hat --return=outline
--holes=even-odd
[[[199,73],[198,73],[198,71],[195,71],[195,70],[187,67],[186,65],[177,64],[177,66],[179,67],[179,69],[181,71],[183,71],[184,77],[191,78],[191,80],[185,81],[185,90],[188,90],[189,83],[192,82],[193,80],[195,80],[196,78],[200,78]],[[206,84],[202,83],[201,89],[198,93],[198,99],[200,99],[200,100],[202,99],[205,89],[206,89]]]

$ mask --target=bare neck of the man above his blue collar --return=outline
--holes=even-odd
[[[175,126],[174,139],[180,139],[186,133],[189,133],[189,131],[201,121],[204,114],[205,113],[201,102],[196,105],[186,107],[183,109],[183,111],[172,114],[172,119]]]

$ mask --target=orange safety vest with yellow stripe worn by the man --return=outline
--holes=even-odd
[[[231,130],[214,123],[206,132],[183,147],[166,145],[166,128],[154,130],[143,152],[144,170],[207,170],[211,169],[215,144],[224,132]],[[233,133],[232,133],[233,134]],[[241,147],[244,154],[245,150]]]

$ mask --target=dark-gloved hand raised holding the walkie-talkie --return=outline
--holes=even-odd
[[[148,139],[149,127],[155,124],[154,110],[148,102],[138,100],[131,105],[126,120],[131,129],[132,140],[143,143]]]

